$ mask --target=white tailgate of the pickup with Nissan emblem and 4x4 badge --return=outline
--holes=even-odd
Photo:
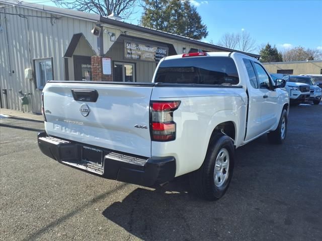
[[[150,157],[152,88],[152,85],[48,83],[43,90],[45,130],[51,136]],[[96,91],[96,101],[86,99]],[[72,92],[81,94],[73,96]]]

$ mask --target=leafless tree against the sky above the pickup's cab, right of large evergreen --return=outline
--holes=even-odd
[[[236,49],[244,52],[253,52],[256,50],[256,41],[251,35],[243,31],[241,33],[225,33],[217,43],[230,49]]]

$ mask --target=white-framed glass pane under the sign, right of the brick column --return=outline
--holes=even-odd
[[[135,66],[131,63],[114,62],[113,78],[118,82],[135,82]]]

